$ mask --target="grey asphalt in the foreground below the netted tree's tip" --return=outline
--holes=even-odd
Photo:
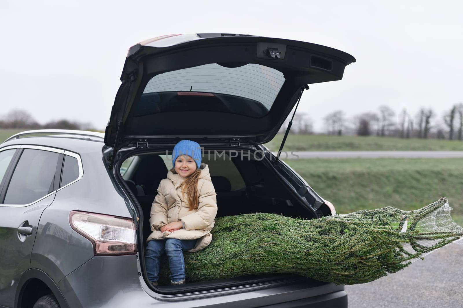
[[[450,244],[368,284],[346,285],[349,307],[462,308],[463,245]]]

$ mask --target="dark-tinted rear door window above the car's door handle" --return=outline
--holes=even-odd
[[[4,204],[28,204],[53,191],[59,154],[25,149],[19,157]]]

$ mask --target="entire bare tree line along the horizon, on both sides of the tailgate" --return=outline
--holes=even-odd
[[[437,138],[463,140],[463,103],[457,103],[444,113],[442,121],[436,121],[437,114],[432,109],[421,108],[415,115],[402,109],[396,120],[393,109],[386,105],[378,112],[364,112],[348,118],[343,110],[336,110],[324,117],[325,132],[329,135],[390,136],[400,138]],[[280,128],[286,131],[288,121]],[[30,113],[13,109],[0,118],[0,128],[11,129],[79,129],[93,130],[90,123],[57,120],[39,124]],[[313,121],[307,113],[296,113],[290,133],[312,134]]]

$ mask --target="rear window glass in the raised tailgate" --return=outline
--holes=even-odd
[[[165,72],[147,83],[136,116],[191,110],[262,117],[284,81],[282,72],[259,64],[226,67],[211,63]]]

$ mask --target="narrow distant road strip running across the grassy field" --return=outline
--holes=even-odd
[[[451,158],[463,151],[283,151],[280,158]]]

